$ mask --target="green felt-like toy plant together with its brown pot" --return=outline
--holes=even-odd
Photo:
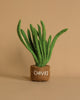
[[[35,65],[31,66],[31,80],[47,81],[50,76],[50,66],[47,65],[51,58],[51,54],[58,37],[68,29],[63,29],[58,32],[54,38],[50,35],[46,40],[46,29],[43,21],[40,21],[41,26],[37,24],[38,30],[30,24],[30,29],[27,29],[27,35],[21,29],[21,20],[17,25],[17,33],[24,46],[31,52]]]

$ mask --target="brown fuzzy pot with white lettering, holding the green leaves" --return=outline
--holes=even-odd
[[[32,65],[30,73],[32,81],[48,81],[50,77],[50,66],[38,67]]]

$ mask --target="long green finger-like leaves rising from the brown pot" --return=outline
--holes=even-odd
[[[43,21],[40,21],[41,26],[37,24],[38,30],[30,24],[30,29],[27,29],[27,35],[23,29],[21,29],[21,20],[18,22],[17,33],[24,44],[24,46],[31,52],[35,66],[42,68],[47,65],[51,58],[52,50],[58,37],[66,32],[68,29],[63,29],[58,32],[54,38],[50,35],[46,40],[46,29]],[[40,73],[38,73],[39,75]]]

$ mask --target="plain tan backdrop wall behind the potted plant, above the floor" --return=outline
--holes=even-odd
[[[19,19],[26,31],[43,20],[47,37],[63,28],[69,30],[56,42],[49,61],[54,77],[80,76],[80,0],[0,0],[0,75],[29,76],[32,55],[20,42]]]

